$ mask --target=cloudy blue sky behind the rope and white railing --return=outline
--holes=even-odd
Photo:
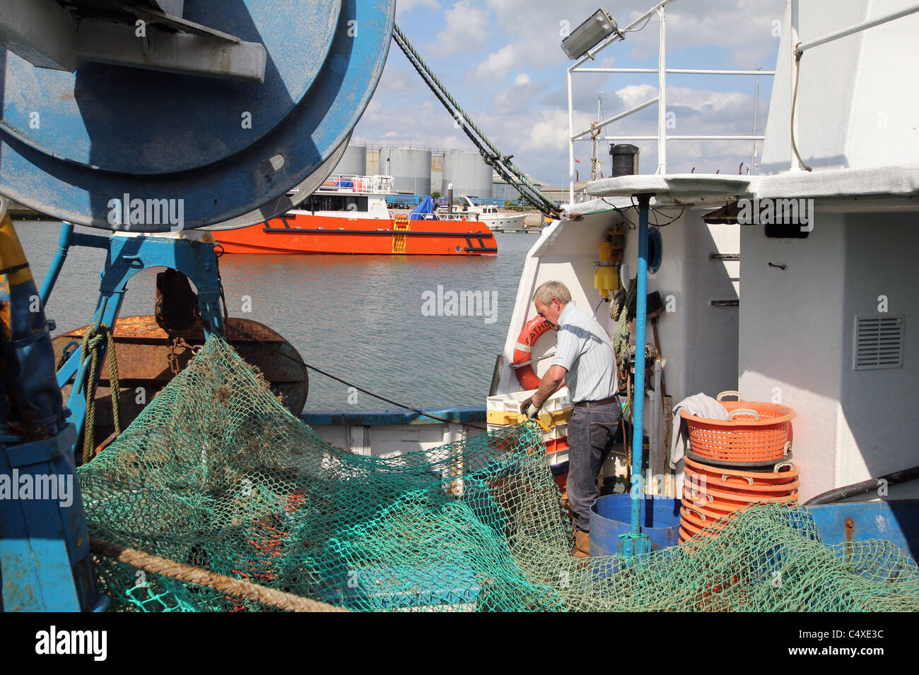
[[[568,136],[562,26],[575,28],[598,6],[624,27],[653,0],[397,0],[396,22],[415,49],[495,142],[514,154],[528,174],[552,185],[567,183]],[[771,71],[776,65],[785,0],[676,0],[666,13],[667,65],[672,68]],[[596,64],[656,68],[658,20],[628,34]],[[762,133],[771,77],[760,77]],[[754,77],[676,75],[667,78],[667,112],[675,134],[744,134],[754,125]],[[574,124],[580,131],[596,119],[597,97],[604,117],[635,106],[657,92],[656,74],[584,73],[574,76]],[[654,135],[656,107],[607,128],[609,135]],[[355,129],[354,141],[473,149],[461,129],[392,43],[380,85]],[[641,173],[657,166],[656,142],[639,142]],[[750,141],[671,141],[667,173],[736,174],[748,163]],[[575,164],[590,172],[593,146],[575,144]],[[608,175],[607,151],[599,152]],[[745,166],[744,166],[745,172]]]

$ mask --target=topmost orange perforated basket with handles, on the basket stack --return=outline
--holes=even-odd
[[[790,422],[795,411],[777,403],[754,403],[743,399],[722,401],[737,392],[722,391],[718,400],[731,416],[729,420],[709,420],[686,411],[689,446],[693,455],[712,462],[766,464],[789,455]]]

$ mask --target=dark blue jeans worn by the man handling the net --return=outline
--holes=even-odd
[[[575,407],[568,421],[568,503],[574,527],[590,532],[590,507],[598,497],[596,476],[609,456],[622,411],[618,403]]]

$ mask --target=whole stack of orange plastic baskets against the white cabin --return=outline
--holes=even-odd
[[[731,395],[738,400],[722,400]],[[699,533],[717,536],[725,525],[720,519],[749,504],[798,500],[800,469],[789,461],[795,412],[745,401],[736,391],[722,391],[718,401],[727,421],[680,411],[689,434],[680,542]]]

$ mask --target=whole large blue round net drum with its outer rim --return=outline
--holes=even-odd
[[[186,0],[183,17],[261,44],[264,82],[67,73],[0,47],[0,193],[76,225],[165,232],[255,225],[321,185],[380,80],[395,0]]]

